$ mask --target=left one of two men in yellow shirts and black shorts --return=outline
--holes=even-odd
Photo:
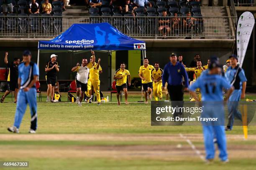
[[[122,62],[120,64],[120,69],[116,70],[115,75],[114,75],[114,80],[116,81],[115,87],[116,90],[118,91],[116,96],[118,98],[118,105],[120,105],[120,100],[119,100],[119,96],[121,93],[121,90],[123,90],[123,92],[125,93],[125,104],[127,105],[127,77],[128,77],[128,86],[131,85],[131,76],[130,76],[130,72],[128,70],[125,69],[125,63]]]

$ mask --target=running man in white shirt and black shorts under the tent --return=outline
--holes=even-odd
[[[84,98],[84,92],[87,91],[87,81],[88,81],[88,75],[89,75],[89,68],[87,65],[87,59],[82,59],[82,65],[80,66],[79,63],[77,63],[77,66],[72,68],[72,72],[77,72],[76,76],[76,85],[77,85],[77,104],[79,106],[82,106],[82,100]]]

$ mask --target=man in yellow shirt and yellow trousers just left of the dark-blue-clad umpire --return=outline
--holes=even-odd
[[[162,100],[162,75],[163,70],[159,68],[159,63],[155,63],[155,68],[151,71],[151,79],[153,80],[153,94],[156,101]]]

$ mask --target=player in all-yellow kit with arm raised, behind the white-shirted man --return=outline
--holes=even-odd
[[[96,93],[97,102],[100,105],[100,58],[98,59],[98,63],[95,62],[95,53],[92,51],[92,61],[87,64],[87,67],[90,68],[89,70],[89,80],[87,82],[87,90],[90,93],[89,103],[92,102],[92,87]]]

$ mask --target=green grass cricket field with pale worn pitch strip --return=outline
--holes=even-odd
[[[0,93],[2,96],[3,93]],[[105,92],[105,97],[110,94]],[[184,96],[188,100],[188,95]],[[247,94],[246,98],[256,99]],[[67,100],[67,93],[62,94]],[[8,133],[13,125],[15,103],[10,95],[0,103],[0,161],[28,160],[29,169],[88,170],[251,170],[256,167],[256,127],[236,126],[228,134],[230,163],[205,165],[201,126],[151,126],[151,105],[137,103],[140,93],[129,95],[129,105],[115,102],[75,103],[38,102],[38,131],[28,134],[29,109],[23,118],[20,134]],[[115,95],[113,101],[116,101]],[[182,138],[183,134],[186,138]],[[187,142],[191,141],[196,150]],[[198,154],[198,152],[200,154]],[[1,168],[0,168],[1,169]],[[8,168],[9,169],[9,168]],[[10,168],[12,169],[12,168]]]

